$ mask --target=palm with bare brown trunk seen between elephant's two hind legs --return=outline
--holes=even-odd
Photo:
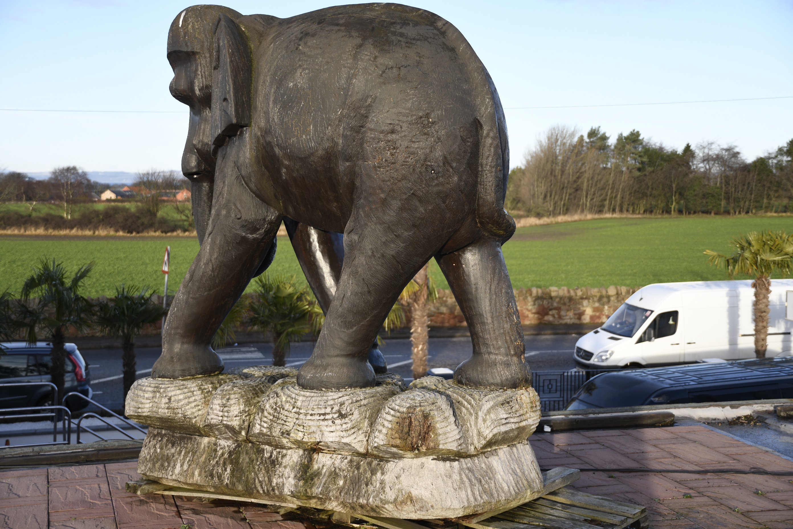
[[[413,344],[413,378],[427,374],[427,342],[429,341],[430,318],[428,302],[435,301],[438,293],[428,274],[430,263],[425,264],[404,287],[400,301],[410,307],[410,341]]]

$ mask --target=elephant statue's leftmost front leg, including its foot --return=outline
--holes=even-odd
[[[223,370],[213,336],[265,259],[281,218],[251,194],[233,164],[218,169],[209,227],[170,306],[153,378]]]

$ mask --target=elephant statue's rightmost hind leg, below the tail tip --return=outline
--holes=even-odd
[[[498,241],[487,236],[435,258],[468,324],[473,355],[454,371],[462,385],[531,386],[523,328]]]

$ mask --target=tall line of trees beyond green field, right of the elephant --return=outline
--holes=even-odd
[[[550,128],[510,172],[515,214],[791,213],[793,140],[747,161],[734,145],[703,141],[677,151],[638,130],[614,141],[600,127],[584,136]]]

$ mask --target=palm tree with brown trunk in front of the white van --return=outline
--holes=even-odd
[[[793,270],[793,234],[785,232],[749,232],[737,236],[730,246],[736,247],[729,257],[706,250],[708,263],[726,268],[727,276],[754,276],[754,354],[765,358],[768,348],[768,295],[771,293],[771,274],[787,276]]]

